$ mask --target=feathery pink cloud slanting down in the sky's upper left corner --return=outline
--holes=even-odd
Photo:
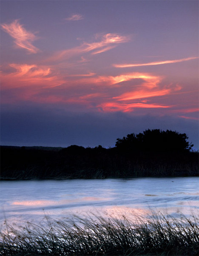
[[[10,24],[1,24],[1,27],[15,39],[14,43],[18,47],[24,48],[30,53],[37,53],[39,51],[37,47],[31,44],[31,42],[37,39],[36,36],[24,29],[23,25],[21,25],[18,20],[14,20]]]

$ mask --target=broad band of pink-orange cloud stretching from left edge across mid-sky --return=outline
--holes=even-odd
[[[149,102],[146,98],[169,95],[181,89],[179,85],[164,85],[162,77],[150,73],[123,73],[118,76],[80,73],[62,76],[44,65],[10,66],[14,71],[2,73],[2,90],[20,88],[21,93],[16,94],[15,99],[69,104],[74,109],[131,112],[138,108],[169,108],[171,105],[154,103],[154,100]],[[126,81],[128,84],[124,84]]]

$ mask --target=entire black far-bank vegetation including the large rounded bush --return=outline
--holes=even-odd
[[[1,179],[197,176],[199,155],[186,134],[146,130],[114,148],[1,146]]]

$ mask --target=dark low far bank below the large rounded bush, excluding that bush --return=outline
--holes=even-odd
[[[1,146],[1,180],[198,176],[198,152]]]

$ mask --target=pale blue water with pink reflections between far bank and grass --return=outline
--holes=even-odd
[[[199,178],[20,180],[0,182],[0,224],[41,223],[44,215],[143,217],[151,211],[199,214]]]

